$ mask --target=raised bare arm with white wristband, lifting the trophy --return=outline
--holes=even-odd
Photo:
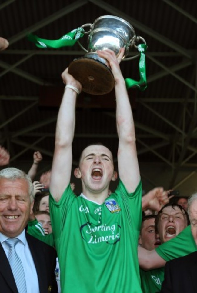
[[[72,75],[68,74],[68,68],[62,73],[62,79],[64,84],[71,87],[65,88],[56,125],[55,151],[50,180],[50,192],[56,201],[60,200],[62,193],[70,182],[77,98],[75,88],[79,92],[82,89],[81,84]]]

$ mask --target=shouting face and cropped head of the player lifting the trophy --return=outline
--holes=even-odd
[[[82,152],[79,163],[82,185],[89,191],[102,192],[113,180],[112,153],[103,145],[90,145]]]

